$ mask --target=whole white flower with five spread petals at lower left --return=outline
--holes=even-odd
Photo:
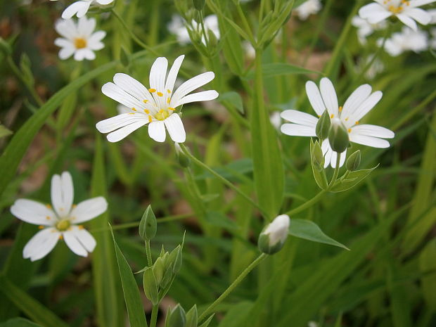
[[[106,211],[108,203],[101,196],[73,205],[74,188],[69,172],[51,178],[51,205],[19,199],[11,207],[12,214],[23,222],[39,225],[36,233],[23,249],[23,257],[35,261],[45,257],[59,239],[76,255],[86,257],[96,247],[96,240],[83,228],[83,222]]]

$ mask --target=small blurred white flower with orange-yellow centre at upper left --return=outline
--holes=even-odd
[[[59,51],[59,58],[65,60],[74,53],[75,60],[94,60],[96,58],[94,51],[104,48],[101,40],[106,35],[103,31],[94,32],[95,28],[94,18],[79,18],[77,24],[72,19],[58,20],[55,29],[63,36],[55,40],[56,46],[62,48]]]

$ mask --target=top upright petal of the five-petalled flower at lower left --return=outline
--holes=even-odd
[[[74,188],[69,172],[63,172],[62,177],[51,177],[51,204],[59,217],[67,217],[70,214]]]

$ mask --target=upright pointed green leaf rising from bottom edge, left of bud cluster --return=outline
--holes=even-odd
[[[111,226],[110,233],[112,234],[115,255],[117,256],[118,271],[120,271],[124,301],[126,302],[130,326],[147,327],[146,315],[144,314],[141,295],[139,294],[138,285],[136,284],[132,269],[130,269],[126,258],[122,254],[117,242],[115,241]]]

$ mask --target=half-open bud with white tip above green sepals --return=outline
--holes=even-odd
[[[267,255],[273,255],[283,248],[286,238],[288,238],[289,230],[289,216],[287,214],[281,214],[271,222],[259,235],[257,245],[259,249],[267,253]]]

